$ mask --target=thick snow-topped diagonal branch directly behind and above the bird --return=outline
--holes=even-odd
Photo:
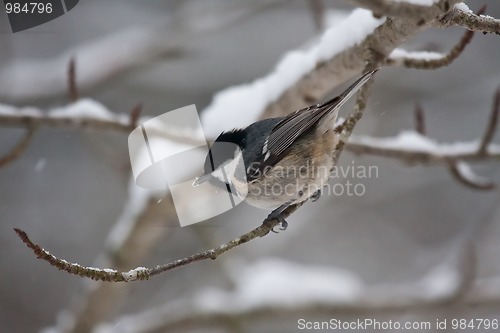
[[[418,12],[425,15],[431,26],[436,24],[436,18],[451,9],[450,5],[458,2],[440,0],[432,6],[394,5],[418,7]],[[285,55],[269,75],[217,93],[202,112],[206,133],[216,136],[227,129],[221,127],[218,119],[224,119],[228,127],[244,127],[259,118],[282,116],[316,103],[337,85],[365,69],[367,50],[382,58],[388,57],[397,46],[425,28],[425,24],[406,17],[384,20],[375,18],[371,11],[354,10],[327,29],[315,46]],[[459,54],[452,51],[444,61],[450,63]]]

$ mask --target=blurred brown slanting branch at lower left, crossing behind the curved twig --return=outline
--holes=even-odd
[[[172,230],[168,228],[175,214],[171,199],[166,198],[158,204],[156,197],[138,197],[137,192],[130,190],[126,208],[110,230],[104,243],[104,251],[94,261],[93,266],[113,267],[117,270],[128,270],[145,260],[159,242],[165,239]],[[142,206],[142,208],[140,208]],[[157,228],[154,226],[164,226]],[[85,281],[87,282],[87,281]],[[55,332],[85,333],[91,332],[100,322],[113,316],[116,308],[125,301],[131,284],[85,283],[75,298],[77,304],[67,314],[71,320],[58,321],[53,327]]]

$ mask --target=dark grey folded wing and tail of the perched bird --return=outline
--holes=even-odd
[[[330,112],[337,112],[349,98],[356,93],[376,72],[367,72],[339,96],[322,104],[298,110],[281,120],[271,131],[264,145],[264,165],[274,165],[283,158],[282,154],[311,127]],[[332,124],[333,126],[333,124]]]

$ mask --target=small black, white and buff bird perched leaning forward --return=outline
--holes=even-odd
[[[222,132],[210,147],[204,174],[193,185],[209,181],[228,191],[233,188],[250,205],[274,209],[268,219],[278,219],[281,229],[286,229],[281,213],[309,198],[316,201],[330,178],[332,153],[339,142],[334,126],[340,107],[376,71],[364,74],[327,102]]]

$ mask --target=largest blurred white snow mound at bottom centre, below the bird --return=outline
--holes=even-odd
[[[204,311],[239,312],[261,306],[297,307],[354,301],[364,288],[353,273],[271,258],[239,270],[236,290],[208,289],[195,299]]]

